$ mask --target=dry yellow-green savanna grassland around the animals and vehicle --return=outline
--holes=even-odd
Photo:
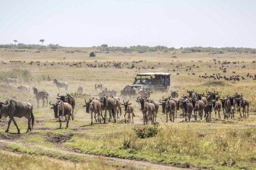
[[[253,77],[256,74],[256,63],[253,62],[256,54],[182,53],[181,50],[174,50],[146,53],[98,52],[96,57],[89,57],[90,52],[97,49],[58,48],[55,51],[36,51],[0,48],[0,101],[15,98],[31,102],[35,116],[34,129],[30,133],[25,133],[27,120],[15,118],[22,133],[20,135],[14,134],[17,129],[13,123],[10,133],[5,133],[7,122],[1,120],[2,169],[256,169],[256,80],[246,76],[248,73]],[[213,59],[220,63],[230,62],[223,66],[227,72],[223,73],[220,69],[222,65],[219,62],[215,64]],[[143,62],[136,63],[139,60]],[[29,64],[31,61],[34,63]],[[81,64],[73,65],[77,62]],[[114,68],[113,63],[119,62],[121,68]],[[104,63],[108,65],[107,68],[98,67],[98,64]],[[96,65],[96,68],[88,67],[88,64]],[[190,67],[191,70],[186,71]],[[194,121],[193,116],[190,122],[185,122],[180,115],[181,111],[178,111],[175,122],[166,123],[166,116],[160,108],[157,113],[159,126],[144,127],[140,105],[132,99],[129,102],[132,102],[135,109],[134,124],[124,123],[122,108],[122,116],[116,124],[99,124],[93,119],[93,125],[90,125],[90,114],[82,106],[84,99],[88,101],[99,93],[94,89],[96,82],[102,82],[103,88],[116,90],[119,96],[125,85],[134,82],[136,74],[153,71],[171,73],[169,92],[153,92],[151,99],[154,101],[158,102],[162,96],[170,95],[171,90],[177,90],[179,98],[191,89],[198,93],[207,89],[215,90],[221,97],[238,92],[250,101],[249,117],[240,118],[235,113],[234,119],[224,119],[221,111],[221,119],[212,112],[211,123],[206,123],[205,119]],[[227,77],[243,76],[244,80],[199,77],[218,73]],[[7,84],[6,79],[16,75],[19,75],[19,82]],[[79,86],[84,89],[84,95],[76,96],[75,120],[70,121],[68,129],[58,129],[59,123],[54,119],[49,105],[41,108],[40,101],[40,109],[36,108],[32,91],[17,89],[19,85],[37,86],[39,91],[49,92],[49,101],[56,101],[59,92],[53,84],[53,78],[68,83],[68,91],[61,89],[61,94],[74,93]],[[65,122],[63,124],[65,126]],[[148,138],[139,138],[134,130],[149,127],[157,133]]]

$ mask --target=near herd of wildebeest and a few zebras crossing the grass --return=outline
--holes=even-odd
[[[67,90],[67,83],[58,82],[56,79],[53,79],[53,81],[57,86],[58,90],[59,88],[65,88]],[[34,91],[38,104],[37,108],[39,108],[40,99],[43,100],[42,107],[45,107],[45,99],[48,104],[49,93],[47,91],[38,91],[37,87],[34,86],[33,88],[30,88],[29,86],[19,86],[18,88],[21,90]],[[102,83],[96,83],[95,89],[102,89]],[[84,99],[85,105],[83,107],[86,108],[86,113],[91,114],[91,125],[93,124],[93,113],[96,122],[102,123],[103,119],[103,123],[106,123],[107,111],[109,113],[108,122],[111,122],[111,119],[113,119],[113,122],[116,123],[116,119],[119,119],[122,115],[121,105],[124,106],[125,123],[130,123],[131,118],[132,123],[134,123],[134,107],[132,106],[132,103],[129,103],[129,99],[128,101],[125,101],[125,96],[123,95],[124,91],[135,92],[132,92],[132,95],[128,95],[130,96],[130,98],[131,96],[138,96],[135,101],[140,105],[140,111],[143,115],[143,125],[148,125],[150,123],[154,124],[154,122],[157,121],[157,112],[160,105],[162,106],[162,113],[166,115],[166,122],[168,122],[168,119],[171,122],[174,122],[174,120],[177,119],[177,111],[179,110],[182,111],[182,117],[185,119],[185,121],[190,121],[192,113],[194,113],[195,121],[198,118],[202,120],[205,117],[206,122],[211,122],[212,111],[215,112],[215,117],[221,119],[221,110],[223,111],[224,119],[233,119],[236,110],[238,113],[240,113],[241,117],[246,117],[246,107],[247,116],[249,116],[249,101],[248,99],[244,98],[243,94],[238,93],[235,93],[231,96],[223,96],[221,98],[218,92],[214,90],[207,90],[206,94],[204,94],[204,92],[200,94],[195,92],[194,90],[187,90],[188,95],[183,95],[180,99],[178,99],[179,94],[178,91],[175,90],[171,91],[170,96],[166,98],[163,96],[159,101],[160,103],[158,103],[153,101],[152,99],[149,99],[149,96],[140,95],[136,89],[132,89],[127,86],[123,91],[121,91],[120,96],[122,96],[123,98],[122,103],[119,98],[120,96],[116,96],[116,92],[110,93],[107,88],[104,91],[105,94],[102,94],[102,96],[99,95],[99,100],[94,99],[93,97],[93,99],[89,99],[89,101],[86,102],[86,100]],[[63,122],[63,117],[65,117],[64,122],[67,122],[66,127],[68,127],[70,117],[72,117],[72,120],[74,120],[73,113],[76,102],[75,97],[71,96],[70,94],[66,94],[65,96],[60,96],[58,94],[56,99],[57,101],[55,103],[49,102],[49,104],[52,105],[51,109],[53,109],[55,118],[58,118],[59,120],[59,128],[62,129],[63,127],[61,125],[61,122]],[[240,111],[241,108],[243,115]],[[13,121],[14,125],[17,127],[18,133],[20,133],[14,117],[26,117],[28,119],[27,132],[29,132],[29,130],[31,131],[35,121],[32,110],[33,106],[29,102],[17,101],[16,99],[7,99],[5,102],[0,102],[0,118],[6,118],[7,116],[9,116],[10,118],[6,132],[9,131],[10,123]],[[105,111],[104,115],[102,114],[103,111]],[[126,121],[127,113],[128,120]]]

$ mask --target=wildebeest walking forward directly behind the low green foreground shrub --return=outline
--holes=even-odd
[[[148,103],[147,97],[137,97],[136,102],[140,103],[141,111],[143,114],[143,124],[148,125],[149,121],[151,121],[151,124],[153,125],[155,112],[154,104]]]

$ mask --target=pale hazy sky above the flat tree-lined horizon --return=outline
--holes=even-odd
[[[256,48],[256,0],[0,0],[0,44]]]

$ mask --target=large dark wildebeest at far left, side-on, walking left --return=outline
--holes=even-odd
[[[20,129],[15,122],[14,117],[22,118],[26,117],[28,119],[28,129],[26,133],[31,131],[34,126],[34,115],[33,115],[33,106],[29,102],[18,101],[15,99],[8,99],[6,102],[0,102],[0,115],[1,117],[9,116],[9,122],[6,132],[9,132],[9,127],[11,122],[17,127],[18,134],[20,134]],[[30,125],[31,124],[31,125]]]

